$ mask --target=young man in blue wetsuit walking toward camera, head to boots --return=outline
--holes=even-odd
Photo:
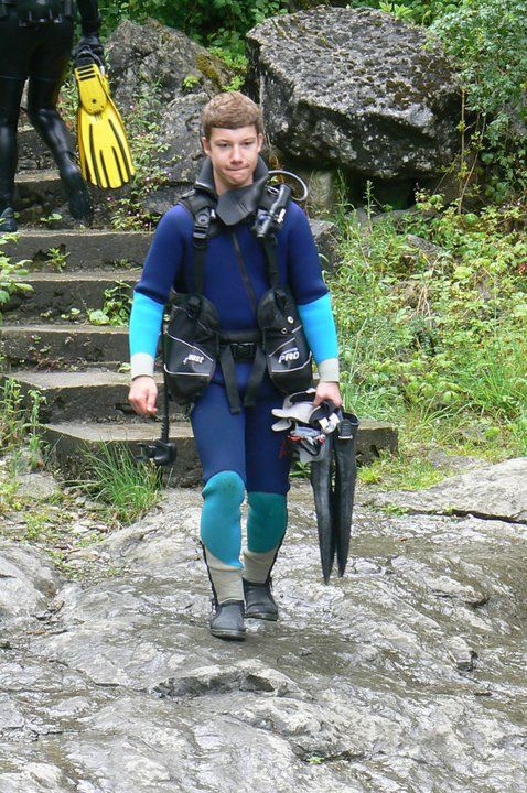
[[[255,185],[264,174],[259,157],[262,121],[257,105],[236,91],[205,107],[202,139],[207,160],[196,191],[215,207],[215,226],[203,260],[203,295],[217,311],[222,332],[257,333],[257,314],[269,290],[264,247],[252,231]],[[192,206],[192,205],[191,205]],[[136,286],[130,318],[129,400],[143,415],[155,413],[153,366],[164,306],[171,289],[195,290],[195,217],[185,202],[162,218]],[[319,369],[315,404],[342,404],[335,325],[311,229],[303,211],[290,203],[278,233],[276,264],[289,287]],[[254,336],[251,336],[254,338]],[[262,376],[255,399],[249,391],[255,345],[232,344],[233,372],[218,362],[212,382],[193,406],[191,421],[203,464],[201,540],[213,587],[211,631],[244,639],[244,615],[276,620],[271,569],[287,528],[289,459],[287,432],[271,430],[272,409],[283,394]],[[249,355],[248,355],[249,354]],[[224,360],[224,359],[222,359]],[[297,389],[292,388],[291,391]],[[250,399],[249,399],[250,395]],[[247,547],[241,555],[240,507],[248,497]]]

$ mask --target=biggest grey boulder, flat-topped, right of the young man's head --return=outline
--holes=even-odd
[[[248,46],[248,85],[280,151],[378,180],[435,176],[453,160],[460,88],[421,30],[320,7],[267,20]]]

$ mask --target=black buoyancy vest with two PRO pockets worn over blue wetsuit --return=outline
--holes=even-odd
[[[270,185],[275,174],[277,172],[268,172],[264,161],[259,160],[251,189],[229,191],[218,198],[212,165],[206,161],[194,189],[180,202],[194,218],[194,291],[178,292],[171,297],[163,354],[168,387],[181,404],[192,403],[204,392],[218,361],[232,413],[241,410],[236,362],[252,361],[244,400],[247,408],[256,403],[266,370],[283,394],[303,391],[312,382],[311,350],[293,295],[289,286],[280,282],[276,252],[277,235],[291,199],[291,188],[287,184]],[[305,186],[304,192],[306,194]],[[270,289],[258,302],[234,235],[240,274],[255,307],[258,327],[224,332],[216,307],[203,296],[205,254],[213,236],[247,218],[254,218],[252,232],[266,254]]]

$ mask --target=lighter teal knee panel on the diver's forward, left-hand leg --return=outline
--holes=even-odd
[[[236,471],[221,471],[203,488],[202,542],[229,567],[241,567],[241,503],[245,484]]]

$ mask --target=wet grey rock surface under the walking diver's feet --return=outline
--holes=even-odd
[[[2,793],[523,793],[527,525],[364,501],[324,586],[295,482],[280,620],[245,643],[207,630],[195,490],[95,545],[92,583],[3,543],[0,591],[11,565],[43,600],[1,611]]]

